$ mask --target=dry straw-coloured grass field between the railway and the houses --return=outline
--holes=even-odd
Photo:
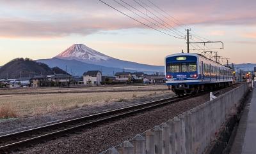
[[[0,119],[44,115],[86,106],[102,106],[165,92],[167,91],[2,95],[0,97]]]

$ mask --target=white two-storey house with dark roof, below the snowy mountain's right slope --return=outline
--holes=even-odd
[[[83,74],[84,85],[100,85],[102,73],[100,71],[87,71]]]

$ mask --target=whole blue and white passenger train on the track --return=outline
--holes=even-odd
[[[164,64],[166,85],[177,95],[225,87],[234,80],[232,69],[197,53],[168,55]]]

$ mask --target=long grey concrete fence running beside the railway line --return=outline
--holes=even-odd
[[[101,154],[204,153],[247,91],[243,84]]]

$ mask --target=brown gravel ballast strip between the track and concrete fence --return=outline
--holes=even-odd
[[[233,85],[221,91],[224,93],[237,86]],[[209,101],[209,94],[186,99],[122,120],[116,120],[99,127],[84,130],[79,134],[37,144],[32,148],[17,151],[17,153],[100,153],[206,101]]]

